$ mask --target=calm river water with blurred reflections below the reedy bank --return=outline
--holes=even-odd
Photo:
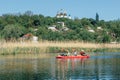
[[[120,53],[91,53],[87,59],[48,56],[1,57],[0,80],[120,80]]]

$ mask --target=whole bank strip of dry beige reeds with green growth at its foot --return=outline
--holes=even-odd
[[[59,53],[61,48],[86,52],[120,52],[120,44],[79,41],[0,42],[0,55]]]

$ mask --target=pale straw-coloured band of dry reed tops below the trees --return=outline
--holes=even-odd
[[[81,48],[120,48],[120,44],[89,43],[79,41],[40,41],[40,42],[0,42],[1,47],[81,47]]]

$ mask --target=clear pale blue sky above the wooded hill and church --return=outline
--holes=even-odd
[[[120,0],[0,0],[0,15],[25,13],[56,16],[60,9],[66,10],[72,18],[93,18],[96,13],[100,20],[120,18]]]

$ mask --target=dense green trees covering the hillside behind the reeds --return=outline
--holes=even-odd
[[[48,41],[86,41],[110,43],[120,41],[120,20],[93,18],[57,18],[33,14],[3,14],[0,16],[0,39],[19,40],[26,34]]]

